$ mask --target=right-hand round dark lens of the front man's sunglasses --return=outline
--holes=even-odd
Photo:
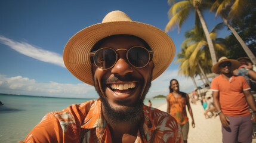
[[[129,49],[127,54],[129,63],[134,67],[144,67],[149,63],[149,51],[147,49],[135,46]]]

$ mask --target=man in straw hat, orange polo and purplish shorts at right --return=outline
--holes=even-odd
[[[224,143],[252,142],[252,121],[249,107],[255,117],[256,103],[245,78],[233,75],[233,70],[239,66],[239,61],[221,57],[218,63],[212,67],[212,72],[220,74],[212,80],[211,90],[217,114],[219,114],[223,125]]]

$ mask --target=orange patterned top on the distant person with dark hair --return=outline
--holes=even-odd
[[[186,112],[187,97],[184,92],[181,92],[178,98],[175,98],[171,93],[169,97],[170,114],[180,123],[184,125],[189,121]]]

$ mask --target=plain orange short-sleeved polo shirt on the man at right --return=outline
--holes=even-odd
[[[230,80],[221,74],[211,83],[211,90],[219,92],[220,107],[224,114],[235,117],[248,116],[248,104],[243,91],[251,89],[242,76],[232,76]]]

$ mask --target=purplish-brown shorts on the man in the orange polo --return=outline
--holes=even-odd
[[[252,142],[252,121],[251,116],[229,118],[229,128],[222,126],[222,141],[227,142]]]

